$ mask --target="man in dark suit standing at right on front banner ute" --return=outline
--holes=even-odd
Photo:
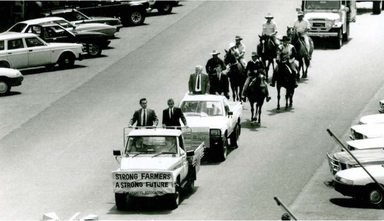
[[[163,110],[163,127],[179,126],[177,129],[181,129],[179,119],[181,119],[185,127],[188,127],[183,111],[179,107],[174,106],[175,102],[173,99],[169,98],[167,103],[168,108]]]

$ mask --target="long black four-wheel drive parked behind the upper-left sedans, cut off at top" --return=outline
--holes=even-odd
[[[141,0],[86,0],[65,3],[89,16],[119,17],[125,26],[143,24],[147,9],[150,10],[149,2]]]

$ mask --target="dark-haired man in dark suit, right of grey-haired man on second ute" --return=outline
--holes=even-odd
[[[221,70],[221,65],[216,66],[216,73],[212,75],[211,94],[223,95],[229,99],[229,80],[227,74]]]

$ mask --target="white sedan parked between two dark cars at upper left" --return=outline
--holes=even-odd
[[[103,23],[88,23],[88,24],[73,24],[70,21],[62,17],[44,17],[31,20],[25,20],[16,23],[8,31],[26,32],[26,30],[34,24],[42,23],[58,23],[65,27],[67,30],[74,33],[80,33],[83,31],[95,31],[107,34],[109,37],[117,35],[117,28],[115,26]]]

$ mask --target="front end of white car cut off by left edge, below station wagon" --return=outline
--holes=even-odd
[[[19,70],[0,67],[0,96],[9,93],[12,86],[22,85],[23,79]]]

